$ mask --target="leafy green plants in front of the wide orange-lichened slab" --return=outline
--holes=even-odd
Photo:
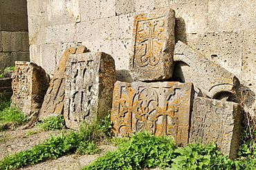
[[[138,169],[165,167],[173,158],[174,142],[170,136],[156,137],[148,132],[132,135],[117,151],[108,151],[83,169]]]

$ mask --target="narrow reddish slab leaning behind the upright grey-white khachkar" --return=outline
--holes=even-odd
[[[55,68],[55,75],[51,79],[50,86],[44,97],[44,102],[39,113],[39,118],[50,115],[61,115],[64,110],[66,64],[71,54],[86,53],[85,46],[67,48],[62,55],[60,62]]]

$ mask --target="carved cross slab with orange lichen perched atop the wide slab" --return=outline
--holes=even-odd
[[[137,15],[129,70],[135,81],[168,79],[172,76],[175,12],[158,9]]]

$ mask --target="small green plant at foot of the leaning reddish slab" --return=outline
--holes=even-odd
[[[42,122],[39,122],[37,125],[44,131],[53,131],[63,129],[65,126],[65,121],[63,115],[54,115],[43,117]]]

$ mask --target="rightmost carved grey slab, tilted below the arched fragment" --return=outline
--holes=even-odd
[[[235,158],[241,133],[241,106],[234,102],[195,97],[190,142],[214,141],[224,155]]]

